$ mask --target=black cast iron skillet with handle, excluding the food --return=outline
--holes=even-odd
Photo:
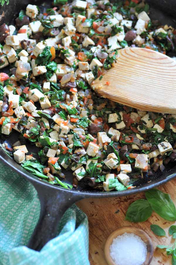
[[[44,1],[10,0],[10,4],[8,6],[4,6],[0,10],[0,15],[2,14],[2,11],[5,12],[5,17],[0,21],[0,24],[4,22],[9,25],[14,23],[14,18],[18,15],[21,9],[26,9],[26,6],[28,4],[41,4],[42,2]],[[176,16],[175,0],[148,0],[146,2],[150,4],[150,18],[155,20],[159,19],[161,24],[163,25],[176,25],[176,22],[173,19]],[[13,134],[11,134],[9,137],[1,139],[1,143],[7,142],[10,146],[17,140],[18,133],[15,133],[14,131]],[[32,151],[37,153],[38,150],[34,145],[31,146],[31,144],[28,144],[26,142],[26,146],[29,152]],[[67,210],[67,208],[70,207],[74,202],[87,197],[103,198],[132,195],[154,188],[176,177],[176,168],[175,165],[172,165],[164,173],[158,172],[153,177],[148,176],[142,181],[139,180],[137,187],[130,190],[119,192],[99,192],[99,190],[89,188],[89,186],[83,181],[80,182],[78,190],[66,190],[64,188],[60,188],[58,186],[40,180],[34,175],[28,173],[13,159],[7,156],[1,148],[0,160],[8,165],[11,169],[16,171],[18,174],[20,174],[22,177],[29,180],[38,192],[41,204],[40,219],[28,244],[28,247],[35,250],[40,250],[45,243],[55,237],[59,220],[61,219],[65,210]],[[72,172],[66,171],[65,174],[68,182],[72,183]]]

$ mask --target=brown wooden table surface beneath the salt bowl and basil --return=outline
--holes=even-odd
[[[176,205],[176,179],[158,187],[165,193],[169,193]],[[133,225],[148,233],[153,242],[154,256],[150,265],[171,265],[170,256],[165,250],[156,248],[158,244],[169,245],[174,242],[168,234],[168,229],[176,222],[166,221],[153,212],[145,222],[130,223],[125,220],[128,206],[137,199],[144,199],[144,193],[121,198],[89,198],[77,202],[77,205],[85,212],[89,220],[89,260],[91,265],[107,265],[104,259],[104,244],[111,232],[124,225]],[[166,232],[166,237],[158,237],[150,230],[150,225],[156,224]]]

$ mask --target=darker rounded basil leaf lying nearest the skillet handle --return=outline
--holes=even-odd
[[[144,222],[152,214],[152,208],[147,200],[136,200],[131,203],[126,212],[126,220],[130,222]]]

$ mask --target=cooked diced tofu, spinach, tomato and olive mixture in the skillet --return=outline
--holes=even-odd
[[[123,106],[90,84],[97,77],[106,82],[120,48],[174,52],[176,30],[151,21],[148,4],[138,0],[54,0],[53,6],[28,4],[16,26],[0,26],[1,136],[19,132],[6,152],[63,188],[89,178],[104,191],[126,190],[164,171],[176,161],[176,115]],[[38,155],[20,141],[39,147]],[[62,169],[73,171],[73,186]]]

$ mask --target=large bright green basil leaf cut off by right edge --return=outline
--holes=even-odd
[[[152,210],[158,213],[162,218],[175,221],[176,209],[170,195],[160,190],[149,190],[145,192],[145,196],[150,203]]]

